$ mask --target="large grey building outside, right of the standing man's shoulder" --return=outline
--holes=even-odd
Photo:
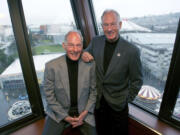
[[[166,81],[175,33],[123,33],[121,36],[139,47],[143,67],[157,79]]]

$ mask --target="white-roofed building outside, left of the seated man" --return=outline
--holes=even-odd
[[[33,56],[38,82],[40,85],[43,83],[45,63],[63,54],[64,53]],[[2,72],[0,75],[0,84],[3,90],[12,91],[17,89],[25,89],[25,83],[19,59],[14,60],[14,62],[11,63],[4,70],[4,72]]]

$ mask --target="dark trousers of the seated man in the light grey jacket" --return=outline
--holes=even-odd
[[[47,116],[42,135],[61,135],[66,128],[69,128],[69,126],[70,125],[65,121],[57,123]],[[75,130],[79,130],[81,135],[96,135],[95,127],[92,127],[88,123],[84,123],[83,125],[72,129],[72,132]]]

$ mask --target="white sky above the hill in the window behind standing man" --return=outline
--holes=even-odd
[[[180,0],[93,0],[97,13],[106,8],[113,8],[123,17],[158,15],[180,11]],[[103,3],[103,5],[102,5]]]

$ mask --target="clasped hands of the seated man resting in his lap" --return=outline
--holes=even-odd
[[[65,121],[67,121],[68,123],[70,123],[72,125],[73,128],[80,126],[83,124],[83,120],[85,118],[85,116],[87,115],[88,111],[83,111],[79,117],[71,117],[71,116],[67,116],[65,118]]]

